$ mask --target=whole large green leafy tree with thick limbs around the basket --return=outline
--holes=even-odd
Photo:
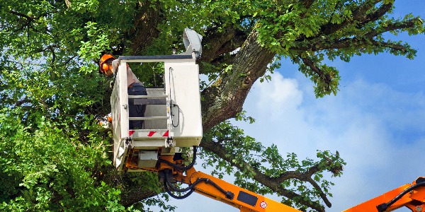
[[[143,210],[138,202],[160,194],[154,175],[118,173],[108,161],[110,135],[94,126],[93,117],[110,111],[111,90],[97,61],[103,52],[181,52],[181,33],[189,27],[204,36],[198,64],[212,82],[201,88],[205,165],[215,165],[219,176],[237,170],[235,184],[259,194],[324,211],[322,202],[331,206],[326,173],[340,176],[344,165],[338,154],[283,157],[276,146],[262,146],[228,120],[254,121],[242,108],[246,95],[257,80],[271,80],[268,71],[283,58],[311,79],[317,98],[338,91],[338,70],[325,59],[380,52],[413,59],[416,50],[385,35],[424,33],[423,20],[411,14],[392,18],[393,3],[1,1],[0,208]],[[152,76],[135,71],[152,83]]]

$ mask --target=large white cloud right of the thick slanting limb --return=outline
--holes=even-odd
[[[422,125],[412,124],[425,121],[423,95],[358,79],[336,97],[315,99],[308,79],[295,81],[278,72],[272,79],[257,84],[244,105],[256,122],[239,125],[265,146],[276,143],[282,154],[295,152],[300,159],[314,158],[318,149],[339,151],[347,165],[344,175],[334,178],[329,211],[350,208],[423,175],[419,147],[425,137],[408,145],[397,140],[409,130],[424,132]],[[404,130],[397,134],[397,129]]]

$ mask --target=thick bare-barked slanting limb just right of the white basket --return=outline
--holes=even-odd
[[[203,129],[234,117],[242,111],[246,95],[254,82],[266,73],[275,54],[261,47],[253,30],[234,58],[232,70],[213,86],[203,90]]]

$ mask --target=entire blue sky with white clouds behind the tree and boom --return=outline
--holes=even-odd
[[[395,4],[396,17],[412,12],[425,18],[424,0]],[[275,143],[281,154],[299,158],[339,151],[346,160],[344,175],[333,179],[327,211],[343,211],[425,176],[425,35],[396,39],[418,50],[414,60],[382,53],[329,63],[341,75],[336,96],[314,98],[310,80],[282,61],[272,81],[257,82],[246,99],[244,110],[256,122],[237,124],[264,146]],[[179,206],[176,211],[239,211],[200,194],[170,204]]]

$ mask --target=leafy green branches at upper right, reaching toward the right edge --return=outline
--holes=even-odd
[[[374,13],[384,4],[393,1],[374,3],[365,13]],[[299,70],[314,83],[316,97],[336,95],[339,86],[339,71],[322,64],[324,59],[336,58],[349,61],[354,55],[390,54],[403,55],[413,59],[416,50],[401,41],[385,40],[383,32],[407,32],[409,35],[424,33],[424,22],[412,14],[402,19],[381,16],[376,21],[365,22],[353,17],[358,10],[358,1],[313,1],[306,8],[304,1],[261,1],[257,3],[255,17],[259,40],[262,45],[283,57],[290,58]],[[371,4],[371,3],[364,3]],[[391,9],[389,12],[391,13]],[[414,24],[409,28],[409,20]],[[394,30],[390,30],[394,29]],[[349,41],[349,42],[346,42]],[[318,49],[322,49],[318,51]],[[300,57],[312,61],[308,66]],[[315,66],[317,70],[313,70]]]

